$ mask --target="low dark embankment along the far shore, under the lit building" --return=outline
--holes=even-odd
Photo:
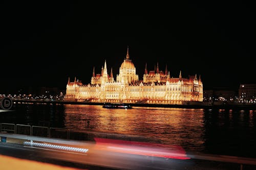
[[[70,105],[103,105],[98,102],[70,102],[70,101],[50,101],[50,100],[20,100],[12,99],[15,103],[31,103],[31,104],[70,104]],[[187,109],[225,109],[225,110],[256,110],[256,104],[245,103],[224,103],[224,102],[185,102],[183,104],[145,104],[130,103],[134,107],[164,107],[164,108],[187,108]]]

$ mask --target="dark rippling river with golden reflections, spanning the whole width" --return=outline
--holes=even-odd
[[[0,123],[139,135],[187,152],[256,158],[256,110],[15,104]]]

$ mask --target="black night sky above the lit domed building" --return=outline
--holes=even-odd
[[[105,60],[116,79],[127,45],[140,79],[158,62],[172,77],[201,75],[204,89],[255,83],[252,4],[87,2],[0,3],[0,94],[88,84]]]

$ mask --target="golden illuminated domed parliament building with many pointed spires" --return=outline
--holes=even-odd
[[[170,78],[170,73],[159,70],[145,71],[143,80],[136,75],[136,68],[130,59],[129,49],[123,60],[116,81],[111,69],[110,75],[104,67],[101,74],[95,74],[91,83],[84,85],[81,81],[68,80],[65,95],[66,101],[79,102],[114,102],[114,103],[148,103],[148,104],[183,104],[187,101],[203,101],[203,83],[201,78],[189,76],[182,78],[181,71],[178,78]]]

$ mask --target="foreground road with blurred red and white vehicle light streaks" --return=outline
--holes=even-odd
[[[5,134],[0,133],[0,136],[4,135]],[[186,156],[183,157],[184,159],[179,157],[177,154],[173,154],[174,158],[164,158],[161,156],[145,155],[141,152],[136,154],[139,149],[131,149],[129,146],[119,148],[119,151],[122,152],[117,152],[118,150],[116,148],[118,146],[111,143],[95,145],[95,143],[87,141],[77,142],[26,135],[13,135],[13,137],[15,136],[17,136],[17,138],[7,137],[6,141],[1,140],[0,155],[78,169],[256,170],[256,160],[250,158],[194,153],[187,153]],[[30,140],[22,138],[28,138]],[[40,142],[42,144],[59,144],[63,146],[63,143],[66,143],[65,145],[67,146],[67,143],[70,143],[72,144],[72,147],[87,148],[88,152],[80,153],[49,147],[47,148],[44,147],[44,145],[42,145],[42,147],[36,147],[35,145],[32,146],[24,144],[24,141],[31,142],[31,139],[34,139],[33,143]],[[48,140],[50,142],[46,142]],[[60,143],[51,143],[51,141],[59,141]],[[23,169],[23,167],[20,167],[20,169]]]

